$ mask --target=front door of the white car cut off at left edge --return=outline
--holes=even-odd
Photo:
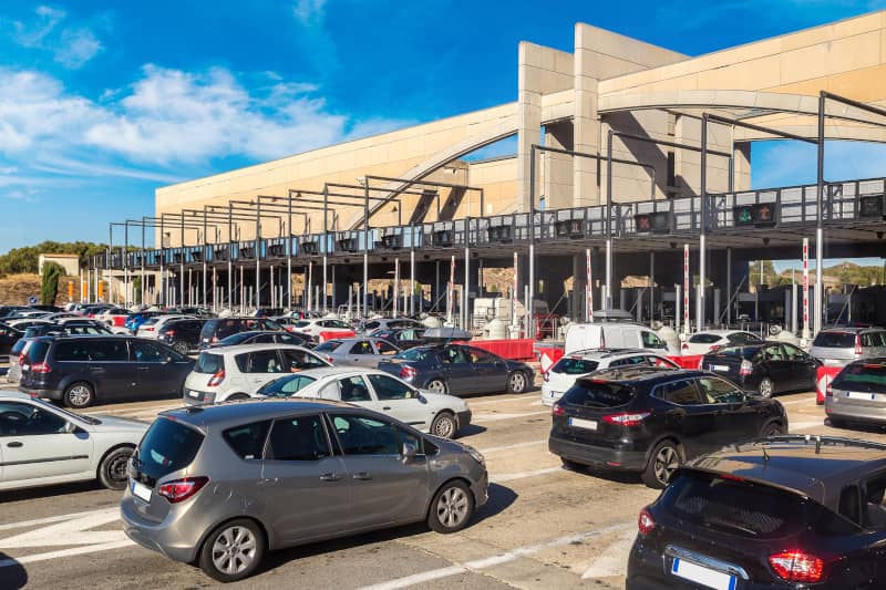
[[[0,401],[0,482],[29,482],[90,470],[92,436],[38,402]]]

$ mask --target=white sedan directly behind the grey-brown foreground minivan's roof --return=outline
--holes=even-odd
[[[271,381],[258,393],[348,402],[443,438],[454,438],[471,424],[471,408],[464,400],[416,390],[377,369],[311,369]]]

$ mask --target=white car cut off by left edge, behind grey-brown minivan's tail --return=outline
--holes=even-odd
[[[126,464],[150,424],[66,412],[0,392],[0,489],[99,479],[126,487]]]

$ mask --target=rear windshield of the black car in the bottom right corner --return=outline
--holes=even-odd
[[[774,487],[692,472],[673,480],[658,505],[690,525],[754,539],[804,528],[812,508],[808,500]]]

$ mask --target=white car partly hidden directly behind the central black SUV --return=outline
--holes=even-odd
[[[554,405],[575,380],[617,366],[680,369],[673,361],[646,350],[588,350],[566,354],[547,373],[542,373],[542,403]]]

